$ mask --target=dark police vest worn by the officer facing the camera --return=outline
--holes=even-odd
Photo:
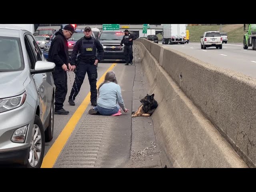
[[[90,40],[86,40],[84,37],[82,38],[82,46],[80,48],[81,56],[96,56],[94,40],[95,39],[93,37]]]

